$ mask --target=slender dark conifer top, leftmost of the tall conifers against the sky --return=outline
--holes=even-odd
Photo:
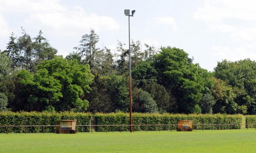
[[[14,37],[14,33],[12,32],[11,37],[9,37],[9,42],[6,46],[6,50],[3,51],[6,53],[7,57],[12,59],[12,70],[19,65],[20,62],[20,53],[19,48],[16,42],[16,38]]]

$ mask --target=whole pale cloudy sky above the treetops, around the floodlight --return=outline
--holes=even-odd
[[[213,71],[223,59],[256,60],[255,6],[255,0],[0,0],[0,49],[12,31],[21,36],[20,27],[32,37],[41,29],[65,57],[93,28],[98,47],[115,53],[117,40],[128,48],[124,9],[130,9],[136,10],[131,39],[181,48]]]

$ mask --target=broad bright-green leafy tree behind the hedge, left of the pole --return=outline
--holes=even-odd
[[[86,111],[93,75],[89,65],[62,57],[41,62],[32,75],[26,70],[18,73],[16,111]]]

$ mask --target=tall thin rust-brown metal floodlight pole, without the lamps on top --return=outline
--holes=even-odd
[[[129,23],[129,71],[130,71],[130,132],[132,132],[130,15],[128,15],[128,23]]]

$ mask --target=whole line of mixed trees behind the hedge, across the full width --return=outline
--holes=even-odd
[[[93,29],[67,57],[40,30],[11,34],[0,51],[0,111],[128,112],[128,49],[97,48]],[[180,48],[131,41],[133,111],[256,114],[256,62],[226,59],[210,72]]]

